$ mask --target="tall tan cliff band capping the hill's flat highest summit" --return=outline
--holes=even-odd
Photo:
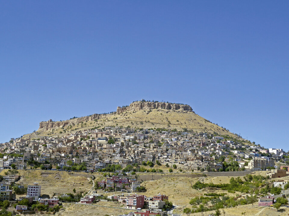
[[[181,111],[190,111],[190,112],[193,111],[191,106],[184,105],[184,104],[136,101],[136,102],[129,104],[128,107],[117,107],[117,114],[120,114],[126,111],[140,111],[140,110],[151,110],[151,109],[181,110]]]

